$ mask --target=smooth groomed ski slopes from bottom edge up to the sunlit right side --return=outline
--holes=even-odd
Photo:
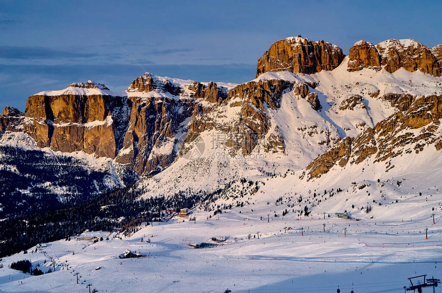
[[[259,180],[250,173],[259,191],[240,199],[248,204],[215,216],[196,206],[187,217],[165,217],[127,237],[85,232],[47,243],[38,252],[30,247],[25,255],[6,257],[0,290],[88,292],[91,284],[98,292],[336,292],[339,286],[341,292],[377,293],[403,291],[414,276],[440,279],[441,163],[434,148],[425,152],[393,159],[396,166],[402,160],[404,169],[391,169],[379,182],[378,168],[384,166],[370,162],[331,170],[320,185],[299,179],[300,172]],[[318,198],[321,203],[311,207]],[[220,198],[214,204],[232,202]],[[305,205],[311,207],[309,216],[297,211]],[[345,210],[352,219],[334,214]],[[94,243],[100,237],[103,241]],[[189,246],[215,244],[212,238],[226,240],[214,247]],[[120,259],[126,249],[145,257]],[[31,276],[8,268],[24,259],[43,271],[55,264],[55,271]]]

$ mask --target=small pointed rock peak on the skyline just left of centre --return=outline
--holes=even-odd
[[[171,81],[164,79],[164,77],[146,72],[134,80],[126,90],[127,93],[151,91],[168,92],[173,95],[179,95],[181,88],[174,85]]]

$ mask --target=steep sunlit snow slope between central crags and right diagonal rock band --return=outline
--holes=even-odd
[[[301,170],[340,139],[355,137],[398,112],[401,105],[392,102],[390,94],[412,99],[442,94],[440,77],[404,69],[394,73],[367,68],[348,72],[347,62],[345,58],[332,71],[315,74],[266,72],[253,80],[255,83],[277,80],[293,85],[307,84],[308,91],[318,95],[322,109],[312,108],[293,86],[293,90],[282,94],[280,107],[266,108],[270,130],[246,155],[232,153],[225,143],[229,136],[223,131],[234,129],[238,120],[241,121],[241,107],[235,106],[244,104],[245,100],[232,97],[225,104],[208,104],[209,110],[204,117],[216,126],[198,133],[200,143],[194,145],[204,145],[202,154],[198,147],[188,147],[188,153],[198,150],[196,158],[178,157],[153,178],[143,179],[139,186],[145,190],[145,197],[156,193],[173,194],[188,188],[214,190],[223,183],[247,178],[252,173],[262,176],[285,173],[288,169]],[[267,152],[265,146],[273,134],[282,136],[283,148]]]

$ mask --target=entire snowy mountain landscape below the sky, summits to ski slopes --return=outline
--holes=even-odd
[[[103,291],[373,293],[440,278],[439,48],[359,41],[344,56],[290,37],[243,84],[146,72],[123,94],[88,81],[7,107],[0,290],[79,291],[74,270]],[[27,258],[55,272],[8,267]]]

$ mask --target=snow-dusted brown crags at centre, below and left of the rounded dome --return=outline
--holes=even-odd
[[[300,92],[308,94],[308,86],[301,83],[299,86]],[[232,152],[250,154],[261,142],[266,152],[284,152],[284,139],[278,127],[273,130],[267,107],[281,107],[282,94],[293,87],[287,81],[260,80],[230,89],[226,101],[229,101],[229,107],[237,108],[238,112],[237,121],[233,124],[223,124],[213,119],[212,116],[217,113],[216,107],[208,109],[195,105],[186,142],[193,141],[202,131],[217,130],[225,134],[225,145]],[[210,112],[211,115],[206,115]]]

